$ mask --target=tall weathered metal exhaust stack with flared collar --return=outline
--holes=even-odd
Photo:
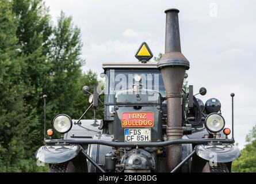
[[[179,38],[178,9],[167,9],[165,54],[158,63],[161,70],[167,99],[168,140],[181,139],[183,135],[181,120],[181,92],[185,71],[189,70],[189,61],[181,53]],[[170,145],[167,150],[167,168],[171,171],[181,162],[181,144]]]

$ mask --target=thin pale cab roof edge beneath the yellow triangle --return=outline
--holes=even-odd
[[[108,68],[157,68],[157,62],[105,62],[102,64],[104,70]]]

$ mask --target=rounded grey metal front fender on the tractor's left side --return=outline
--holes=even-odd
[[[81,150],[80,145],[44,145],[36,152],[37,161],[57,164],[75,158]]]

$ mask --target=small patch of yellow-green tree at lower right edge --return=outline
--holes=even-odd
[[[256,172],[256,125],[246,136],[246,145],[239,159],[232,163],[232,171],[239,173]]]

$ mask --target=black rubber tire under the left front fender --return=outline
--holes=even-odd
[[[75,166],[71,161],[52,164],[49,173],[75,173]]]

